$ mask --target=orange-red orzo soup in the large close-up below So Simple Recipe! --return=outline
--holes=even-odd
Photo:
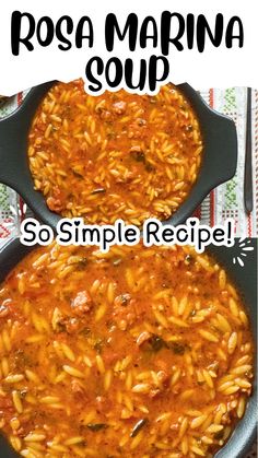
[[[0,289],[1,428],[23,457],[212,457],[244,415],[253,339],[189,247],[52,244]]]

